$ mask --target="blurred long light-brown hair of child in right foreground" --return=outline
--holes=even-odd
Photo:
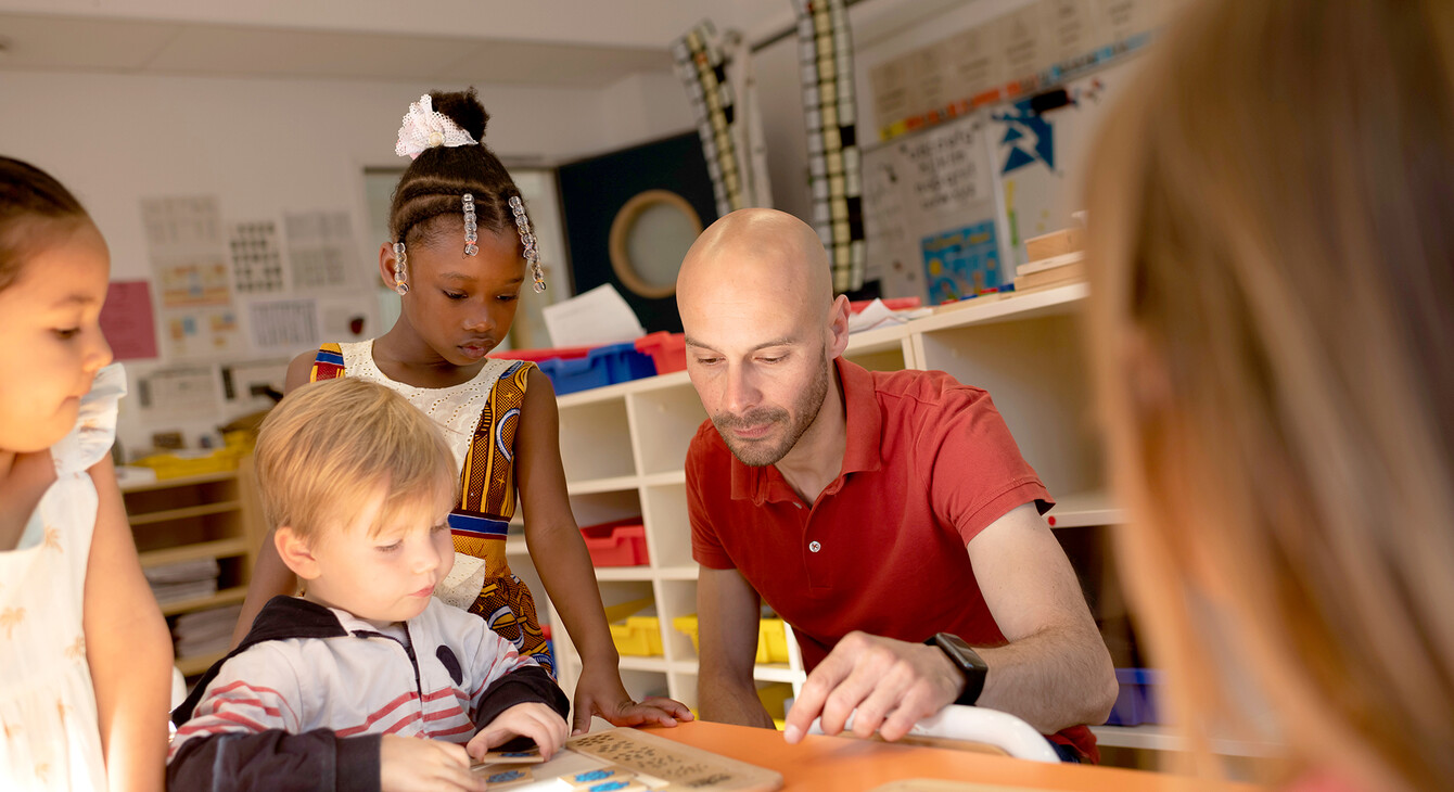
[[[1202,759],[1237,657],[1304,767],[1454,786],[1454,3],[1189,9],[1089,189],[1120,551]]]

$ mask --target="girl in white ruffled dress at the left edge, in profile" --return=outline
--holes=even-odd
[[[111,257],[0,157],[0,789],[161,789],[172,644],[111,465]]]

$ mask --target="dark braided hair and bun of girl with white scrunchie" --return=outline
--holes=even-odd
[[[474,195],[475,222],[481,230],[515,233],[515,215],[507,202],[521,190],[499,157],[484,145],[484,125],[490,113],[484,112],[473,87],[430,92],[429,97],[436,112],[449,116],[480,144],[426,148],[404,170],[388,206],[391,241],[427,241],[443,231],[441,224],[430,222],[436,217],[457,218],[462,224],[464,193]]]

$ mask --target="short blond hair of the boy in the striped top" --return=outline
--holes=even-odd
[[[305,541],[348,525],[387,488],[372,536],[411,509],[458,494],[454,455],[427,416],[384,385],[343,376],[298,388],[257,436],[263,516]]]

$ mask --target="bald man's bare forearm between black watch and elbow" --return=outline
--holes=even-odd
[[[976,651],[990,667],[976,703],[1018,715],[1044,734],[1104,724],[1115,703],[1115,668],[1098,634],[1053,628]]]

